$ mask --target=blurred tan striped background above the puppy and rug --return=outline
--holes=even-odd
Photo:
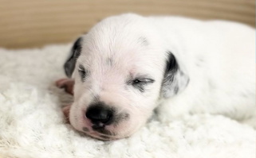
[[[254,0],[0,0],[0,47],[69,43],[102,18],[128,12],[225,19],[255,27]]]

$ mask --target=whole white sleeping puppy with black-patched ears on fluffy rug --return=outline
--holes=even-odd
[[[255,112],[255,30],[228,21],[122,14],[100,21],[65,63],[73,127],[100,140],[131,136],[157,110],[183,114]],[[69,112],[70,110],[70,112]]]

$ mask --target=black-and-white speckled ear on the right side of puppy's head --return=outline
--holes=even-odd
[[[162,96],[169,98],[183,91],[189,83],[189,77],[182,70],[171,52],[167,52],[168,59],[162,83]]]

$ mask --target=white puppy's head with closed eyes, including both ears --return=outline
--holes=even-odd
[[[75,79],[69,120],[101,140],[128,137],[151,117],[160,98],[182,91],[187,75],[144,17],[97,24],[73,44],[65,72]]]

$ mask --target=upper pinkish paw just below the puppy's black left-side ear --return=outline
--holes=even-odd
[[[75,84],[73,79],[59,79],[55,84],[57,87],[64,88],[67,93],[73,95],[73,86]]]

